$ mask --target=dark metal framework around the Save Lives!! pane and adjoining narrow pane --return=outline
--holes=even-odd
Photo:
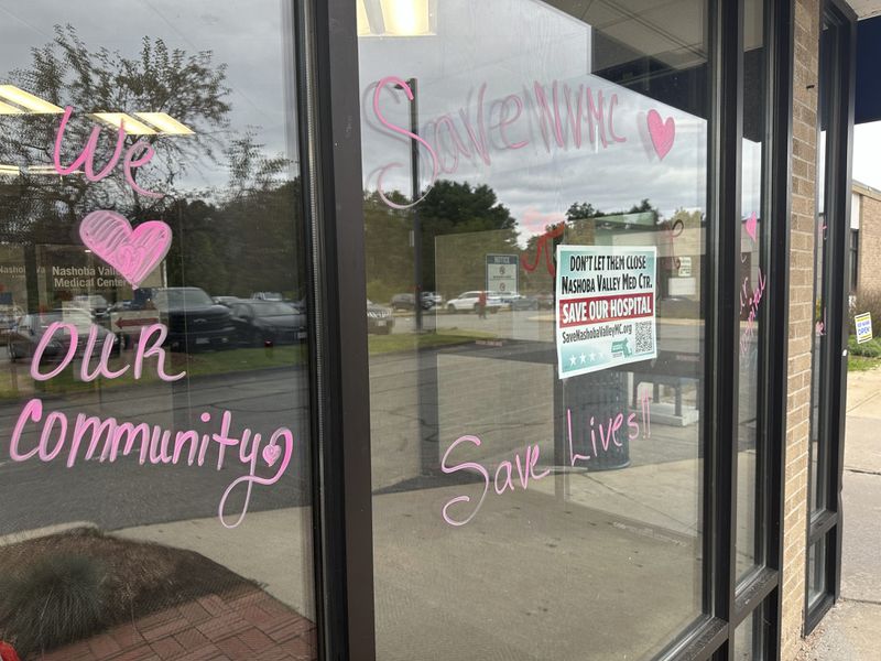
[[[305,218],[309,237],[314,549],[320,659],[376,659],[369,362],[356,3],[295,3]],[[768,149],[763,155],[766,303],[761,323],[757,506],[763,562],[736,572],[737,373],[743,2],[710,0],[708,253],[705,292],[704,610],[659,659],[728,659],[760,613],[780,658],[783,442],[792,156],[793,0],[766,3]],[[732,28],[735,26],[735,28]],[[773,220],[773,221],[770,221]],[[363,312],[365,314],[358,314]]]

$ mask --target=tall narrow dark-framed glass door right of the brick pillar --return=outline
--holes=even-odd
[[[811,401],[806,631],[840,590],[841,474],[847,389],[850,154],[856,22],[836,2],[823,12]]]

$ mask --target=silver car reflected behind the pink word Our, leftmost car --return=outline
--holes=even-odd
[[[76,307],[25,314],[17,326],[9,332],[7,349],[9,350],[10,360],[15,361],[20,358],[32,357],[48,327],[56,322],[73,324],[76,328],[76,356],[81,356],[85,351],[93,326],[98,338],[97,347],[104,346],[104,339],[109,334],[109,330],[104,326],[93,324],[91,316],[87,312]],[[70,338],[72,334],[67,327],[56,332],[43,350],[42,357],[48,360],[64,358],[70,348]],[[115,349],[118,348],[119,338],[113,339],[113,345]]]

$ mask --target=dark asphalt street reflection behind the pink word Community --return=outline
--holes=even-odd
[[[210,465],[216,462],[216,454],[209,455],[203,467],[188,467],[185,462],[176,466],[140,466],[137,453],[113,464],[80,459],[73,468],[65,467],[66,454],[50,463],[36,457],[14,463],[9,457],[8,434],[24,403],[19,399],[0,404],[0,426],[8,430],[0,445],[0,534],[69,521],[90,521],[112,530],[182,519],[216,519],[225,489],[244,474],[238,460],[226,462],[221,470],[216,470]],[[207,411],[217,421],[222,410],[232,414],[233,433],[247,426],[268,435],[279,426],[287,426],[295,436],[291,466],[279,484],[254,488],[249,511],[292,507],[308,498],[308,397],[301,368],[238,372],[174,384],[107,388],[65,398],[50,395],[44,398],[44,404],[46,411],[63,411],[69,420],[86,413],[172,430],[217,431],[215,422],[203,424],[198,415]],[[34,447],[40,426],[29,424],[26,429],[22,444]],[[240,511],[242,492],[239,489],[230,497],[229,512]],[[216,524],[220,527],[219,521]]]

